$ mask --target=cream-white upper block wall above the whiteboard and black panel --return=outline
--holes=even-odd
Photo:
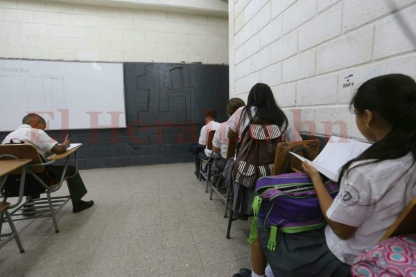
[[[136,8],[1,0],[0,57],[228,64],[227,20]]]

